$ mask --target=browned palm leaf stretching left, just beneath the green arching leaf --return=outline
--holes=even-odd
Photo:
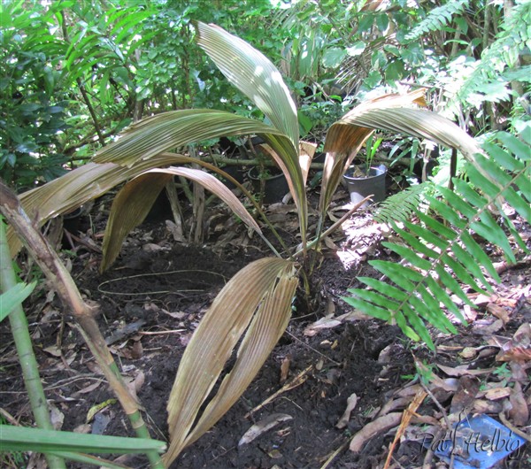
[[[41,227],[48,219],[61,213],[73,211],[82,204],[103,196],[105,192],[140,173],[166,165],[188,163],[190,158],[167,153],[140,161],[132,167],[123,167],[114,163],[97,165],[88,163],[60,178],[44,184],[40,188],[29,190],[19,196],[20,204],[28,217]],[[12,227],[7,229],[7,239],[12,255],[19,252],[22,243],[14,235]]]

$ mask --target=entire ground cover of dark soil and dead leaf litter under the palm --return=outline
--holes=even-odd
[[[346,210],[336,198],[331,219]],[[278,229],[295,236],[290,234],[296,227],[292,206],[275,204],[269,211]],[[169,224],[168,229],[138,228],[127,238],[116,267],[103,276],[97,273],[99,254],[84,247],[86,243],[78,245],[73,258],[81,291],[101,305],[100,327],[111,339],[129,387],[146,408],[151,433],[162,439],[167,434],[165,400],[189,337],[224,279],[266,253],[234,218],[214,219],[204,248],[190,245]],[[98,234],[93,237],[99,243]],[[427,467],[439,461],[438,450],[465,414],[489,416],[529,441],[529,262],[516,268],[504,265],[503,283],[494,295],[470,293],[476,309],[459,306],[470,326],[459,327],[457,336],[436,334],[433,354],[421,345],[408,345],[396,327],[368,319],[342,302],[357,276],[376,275],[367,259],[389,258],[381,246],[388,237],[385,227],[373,223],[370,211],[330,236],[312,278],[317,291],[313,307],[296,304],[287,333],[250,388],[173,467]],[[148,263],[138,260],[139,250]],[[192,272],[197,269],[203,273]],[[179,277],[172,277],[176,270],[189,271],[186,288]],[[206,283],[205,273],[211,273]],[[102,282],[109,291],[99,291]],[[53,296],[41,296],[27,312],[42,350],[42,376],[56,425],[131,435],[101,370],[73,325],[54,308]],[[29,424],[10,347],[3,347],[0,410]],[[94,417],[86,423],[91,409]],[[288,427],[278,429],[281,423]],[[252,438],[245,436],[251,429]],[[530,454],[528,446],[519,448],[506,464],[527,467]],[[146,467],[138,457],[120,461]]]

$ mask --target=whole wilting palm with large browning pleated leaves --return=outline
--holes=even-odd
[[[412,104],[424,104],[421,92],[405,96],[382,96],[359,105],[328,131],[325,144],[327,158],[319,201],[319,225],[310,240],[307,231],[305,182],[312,156],[299,150],[296,106],[281,79],[281,73],[258,50],[219,27],[197,23],[196,41],[227,79],[266,115],[269,124],[224,111],[165,112],[136,123],[117,142],[98,151],[88,165],[21,197],[30,218],[43,223],[45,219],[71,210],[90,198],[101,196],[119,183],[135,178],[121,189],[112,205],[104,238],[102,268],[105,269],[118,256],[124,237],[142,221],[158,192],[174,174],[189,177],[204,185],[227,202],[249,227],[261,233],[258,223],[242,203],[211,174],[190,168],[160,169],[160,166],[190,163],[208,166],[196,158],[170,153],[169,150],[223,135],[256,134],[262,136],[271,147],[270,155],[285,173],[296,204],[302,248],[295,254],[288,253],[287,258],[278,255],[262,258],[244,267],[227,282],[205,313],[181,359],[169,396],[167,408],[171,438],[164,457],[166,466],[171,465],[187,445],[195,442],[235,404],[273,350],[288,325],[292,299],[298,284],[296,275],[304,272],[303,267],[308,264],[308,250],[319,242],[325,232],[327,206],[331,197],[342,174],[363,143],[372,135],[373,129],[414,135],[457,148],[486,181],[496,178],[489,170],[478,169],[483,162],[478,156],[481,154],[481,147],[472,137],[449,120],[433,112],[412,107]],[[216,171],[220,172],[219,169]],[[489,191],[489,197],[491,196],[495,196],[493,191]],[[485,201],[489,204],[491,198]],[[427,223],[429,217],[419,214],[421,216]],[[431,241],[431,238],[428,239]],[[12,252],[16,252],[18,246],[13,237],[11,243]],[[423,242],[412,242],[411,245],[410,251],[420,250]],[[406,259],[415,258],[408,251]],[[448,259],[450,256],[442,260]],[[410,270],[410,275],[413,275],[414,270]],[[451,276],[439,271],[440,269],[437,273],[443,275],[443,279],[448,280],[448,276]],[[392,269],[385,273],[395,280]],[[467,279],[459,277],[461,281]],[[446,282],[443,284],[447,286]],[[420,283],[405,284],[412,297],[415,296],[414,288],[417,285]],[[432,287],[433,282],[430,281],[428,288]],[[441,301],[447,302],[447,296],[443,296],[442,290],[443,287],[434,288],[434,295],[442,296]],[[394,290],[392,293],[394,296],[389,293],[382,300],[374,300],[375,296],[365,300],[374,300],[373,304],[387,311],[386,302],[391,308],[396,303],[397,294]],[[420,291],[420,297],[415,296],[417,299],[411,305],[413,312],[408,319],[413,321],[413,327],[418,324],[418,321],[414,322],[411,318],[414,318],[414,311],[419,303],[433,303],[423,293],[423,290]],[[419,310],[419,314],[424,312]],[[438,314],[436,312],[435,316]],[[403,324],[398,315],[387,314],[383,319],[395,319],[396,323]],[[427,316],[427,321],[432,319],[434,315]],[[411,327],[404,327],[404,330],[412,336]],[[426,334],[419,336],[423,340],[428,339]],[[235,364],[225,374],[215,395],[211,396],[212,388],[237,344]]]

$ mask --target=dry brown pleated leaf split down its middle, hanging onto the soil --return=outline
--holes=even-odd
[[[235,404],[288,325],[296,290],[294,264],[264,258],[244,267],[219,292],[193,334],[168,401],[169,466]],[[233,354],[235,365],[200,412]]]

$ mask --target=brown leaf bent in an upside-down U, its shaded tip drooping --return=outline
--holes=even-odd
[[[238,197],[212,174],[185,167],[152,169],[137,176],[133,181],[129,181],[112,202],[104,234],[104,255],[100,266],[102,272],[108,269],[118,257],[124,238],[146,218],[158,194],[169,181],[172,181],[173,176],[183,176],[201,184],[219,196],[245,224],[261,233],[257,222]]]

